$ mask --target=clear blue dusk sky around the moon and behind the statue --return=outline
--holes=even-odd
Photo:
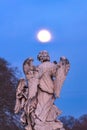
[[[38,30],[52,32],[53,40],[42,44]],[[87,113],[87,0],[2,0],[0,1],[0,57],[22,71],[22,63],[40,50],[51,61],[66,56],[71,63],[57,106],[62,115]]]

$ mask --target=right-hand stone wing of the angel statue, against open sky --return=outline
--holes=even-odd
[[[56,97],[60,97],[60,91],[69,71],[70,64],[68,59],[61,57],[60,62],[57,65],[58,69],[56,72],[56,78],[54,80],[54,93]]]

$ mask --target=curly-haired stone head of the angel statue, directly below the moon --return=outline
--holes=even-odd
[[[49,53],[46,50],[40,51],[37,59],[41,62],[50,61]]]

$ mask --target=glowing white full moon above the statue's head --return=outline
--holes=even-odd
[[[51,35],[50,31],[48,31],[46,29],[42,29],[42,30],[38,31],[37,39],[40,42],[46,43],[46,42],[51,41],[52,35]]]

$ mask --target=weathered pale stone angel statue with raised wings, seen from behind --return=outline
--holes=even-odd
[[[33,65],[31,57],[23,63],[25,84],[17,87],[15,113],[22,111],[21,121],[26,130],[65,130],[58,120],[61,111],[54,101],[60,97],[70,69],[69,61],[63,56],[59,62],[50,62],[46,50],[39,52],[37,59],[41,62],[38,66]],[[25,86],[23,92],[21,88]]]

